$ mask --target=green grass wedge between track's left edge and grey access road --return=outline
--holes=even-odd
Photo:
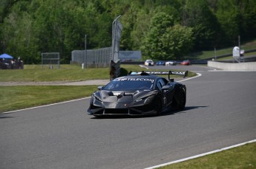
[[[0,113],[91,96],[96,86],[0,86]]]

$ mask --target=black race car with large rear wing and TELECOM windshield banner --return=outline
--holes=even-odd
[[[157,75],[168,75],[168,80]],[[185,77],[188,71],[130,72],[128,76],[117,77],[92,94],[88,114],[160,114],[169,108],[185,108],[186,86],[174,82],[170,75]]]

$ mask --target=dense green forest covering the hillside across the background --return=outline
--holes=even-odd
[[[0,53],[40,63],[42,52],[111,46],[112,22],[121,21],[120,49],[155,60],[220,49],[256,38],[255,0],[1,0]]]

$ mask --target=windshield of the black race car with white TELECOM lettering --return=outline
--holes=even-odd
[[[150,78],[137,78],[137,77],[128,77],[121,79],[114,79],[110,83],[108,83],[104,90],[150,90],[153,89],[154,79]]]

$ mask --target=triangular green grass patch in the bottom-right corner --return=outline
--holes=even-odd
[[[198,168],[256,168],[256,142],[242,145],[197,159],[179,162],[160,169],[198,169]]]

